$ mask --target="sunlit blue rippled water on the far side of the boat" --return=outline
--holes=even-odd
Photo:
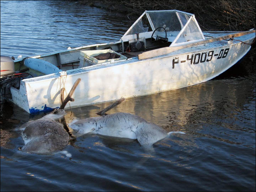
[[[131,25],[124,15],[65,1],[1,1],[1,20],[1,52],[15,58],[118,41]]]

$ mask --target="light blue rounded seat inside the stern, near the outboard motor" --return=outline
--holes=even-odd
[[[62,71],[57,66],[43,59],[27,58],[24,60],[24,65],[46,75]]]

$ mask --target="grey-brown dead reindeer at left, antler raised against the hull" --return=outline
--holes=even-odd
[[[69,134],[64,129],[63,124],[54,121],[54,119],[57,120],[65,116],[64,107],[68,101],[74,101],[74,98],[71,98],[71,96],[80,81],[80,78],[76,80],[65,100],[63,100],[64,88],[61,90],[62,105],[60,108],[55,109],[52,113],[40,119],[29,121],[20,127],[20,129],[24,129],[21,135],[25,145],[19,148],[19,150],[36,154],[51,154],[63,150],[68,145]],[[66,156],[70,156],[66,151],[64,153]]]

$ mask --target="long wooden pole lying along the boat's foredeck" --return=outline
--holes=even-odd
[[[233,33],[233,34],[229,34],[229,35],[225,35],[225,36],[221,36],[221,37],[216,37],[216,38],[212,38],[212,39],[203,40],[203,41],[196,42],[196,43],[186,44],[186,45],[183,45],[183,46],[163,47],[163,48],[159,48],[159,49],[155,49],[155,50],[150,50],[150,51],[146,51],[146,52],[143,52],[143,53],[139,54],[138,58],[139,58],[139,60],[148,59],[148,58],[156,57],[156,56],[159,56],[159,55],[169,54],[169,53],[171,53],[173,51],[176,51],[176,50],[179,50],[179,49],[184,49],[184,48],[187,48],[187,47],[193,47],[193,46],[197,46],[197,45],[201,45],[201,44],[205,44],[205,43],[212,43],[212,42],[215,42],[215,41],[221,41],[223,39],[229,39],[229,38],[233,38],[233,37],[240,37],[240,36],[250,34],[250,33],[255,33],[255,30]]]

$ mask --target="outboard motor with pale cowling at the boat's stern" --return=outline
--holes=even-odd
[[[1,100],[5,98],[12,98],[10,87],[15,87],[20,89],[20,81],[26,76],[30,75],[28,73],[22,73],[28,68],[15,71],[14,59],[6,55],[1,55],[1,74],[0,74],[0,93]]]

